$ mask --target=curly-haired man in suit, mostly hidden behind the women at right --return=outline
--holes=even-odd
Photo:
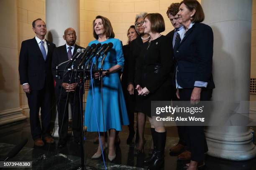
[[[169,7],[168,10],[166,12],[168,18],[170,19],[172,26],[174,27],[174,30],[172,30],[171,32],[169,32],[166,36],[167,37],[171,37],[172,39],[172,50],[174,48],[175,45],[175,40],[176,40],[176,36],[177,36],[177,32],[179,32],[179,30],[182,30],[182,25],[178,22],[178,15],[177,13],[179,12],[179,3],[172,3]],[[174,72],[175,70],[175,65],[172,68],[172,72]],[[176,88],[174,88],[174,92],[173,92],[173,100],[178,100],[176,97]],[[173,146],[172,148],[170,148],[170,154],[176,154],[176,153],[181,153],[182,151],[184,151],[185,147],[186,147],[186,141],[185,141],[185,131],[184,131],[184,127],[183,126],[177,126],[178,128],[178,134],[179,134],[179,142],[177,143],[177,145]],[[183,153],[181,153],[180,155],[178,155],[179,159],[182,160],[190,160],[190,153],[189,151],[185,151]]]

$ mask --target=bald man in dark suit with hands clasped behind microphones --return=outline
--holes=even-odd
[[[76,45],[77,40],[76,32],[73,28],[67,28],[63,35],[66,44],[57,47],[53,53],[52,68],[55,74],[55,68],[62,62],[72,58],[80,46]],[[80,62],[76,60],[74,66]],[[59,70],[67,70],[67,63],[61,65]],[[64,74],[60,71],[61,78],[56,80],[55,95],[57,99],[58,119],[59,119],[59,147],[63,147],[67,142],[68,131],[68,105],[71,104],[72,110],[72,131],[74,135],[74,142],[81,143],[81,111],[82,111],[82,98],[84,94],[84,85],[79,80],[74,79],[75,72],[69,71]]]

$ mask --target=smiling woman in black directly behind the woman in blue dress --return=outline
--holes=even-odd
[[[128,42],[127,45],[123,45],[123,56],[125,58],[125,63],[123,67],[123,74],[121,78],[121,84],[123,88],[123,95],[125,97],[125,104],[126,104],[126,109],[128,113],[128,118],[130,124],[128,125],[129,128],[129,135],[126,140],[126,143],[129,145],[133,142],[134,138],[134,112],[135,112],[135,97],[134,95],[130,95],[128,90],[127,90],[127,85],[128,85],[128,62],[129,62],[129,52],[130,52],[130,44],[133,40],[135,40],[138,36],[138,33],[136,31],[136,28],[134,25],[131,25],[130,28],[128,29],[127,32],[127,37],[128,37]]]

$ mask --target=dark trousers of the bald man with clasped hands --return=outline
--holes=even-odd
[[[83,101],[83,90],[76,89],[75,92],[65,93],[64,95],[56,94],[58,122],[59,122],[59,139],[66,140],[69,127],[69,102],[72,113],[72,131],[75,139],[80,139],[81,134],[81,110]]]

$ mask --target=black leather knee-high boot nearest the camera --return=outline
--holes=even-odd
[[[155,132],[156,143],[156,158],[148,166],[147,170],[164,169],[164,147],[166,143],[166,131],[163,133]]]

